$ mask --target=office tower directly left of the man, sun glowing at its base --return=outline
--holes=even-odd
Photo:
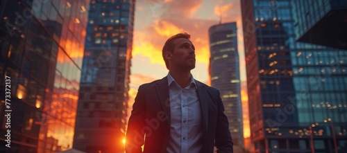
[[[124,152],[135,0],[92,0],[74,148]]]

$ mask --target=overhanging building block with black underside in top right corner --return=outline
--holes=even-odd
[[[347,50],[347,1],[292,1],[296,39]]]

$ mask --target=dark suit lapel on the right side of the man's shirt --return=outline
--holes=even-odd
[[[196,87],[198,91],[198,100],[200,102],[201,107],[201,116],[203,116],[203,134],[207,134],[208,132],[208,92],[205,87],[201,84],[201,82],[196,82]]]

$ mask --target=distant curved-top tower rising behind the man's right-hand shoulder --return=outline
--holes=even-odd
[[[236,23],[209,29],[211,86],[219,89],[235,146],[244,147]]]

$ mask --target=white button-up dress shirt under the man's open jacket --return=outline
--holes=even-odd
[[[167,75],[171,111],[169,153],[198,153],[203,147],[201,107],[196,93],[196,83],[191,77],[189,85],[181,88]]]

